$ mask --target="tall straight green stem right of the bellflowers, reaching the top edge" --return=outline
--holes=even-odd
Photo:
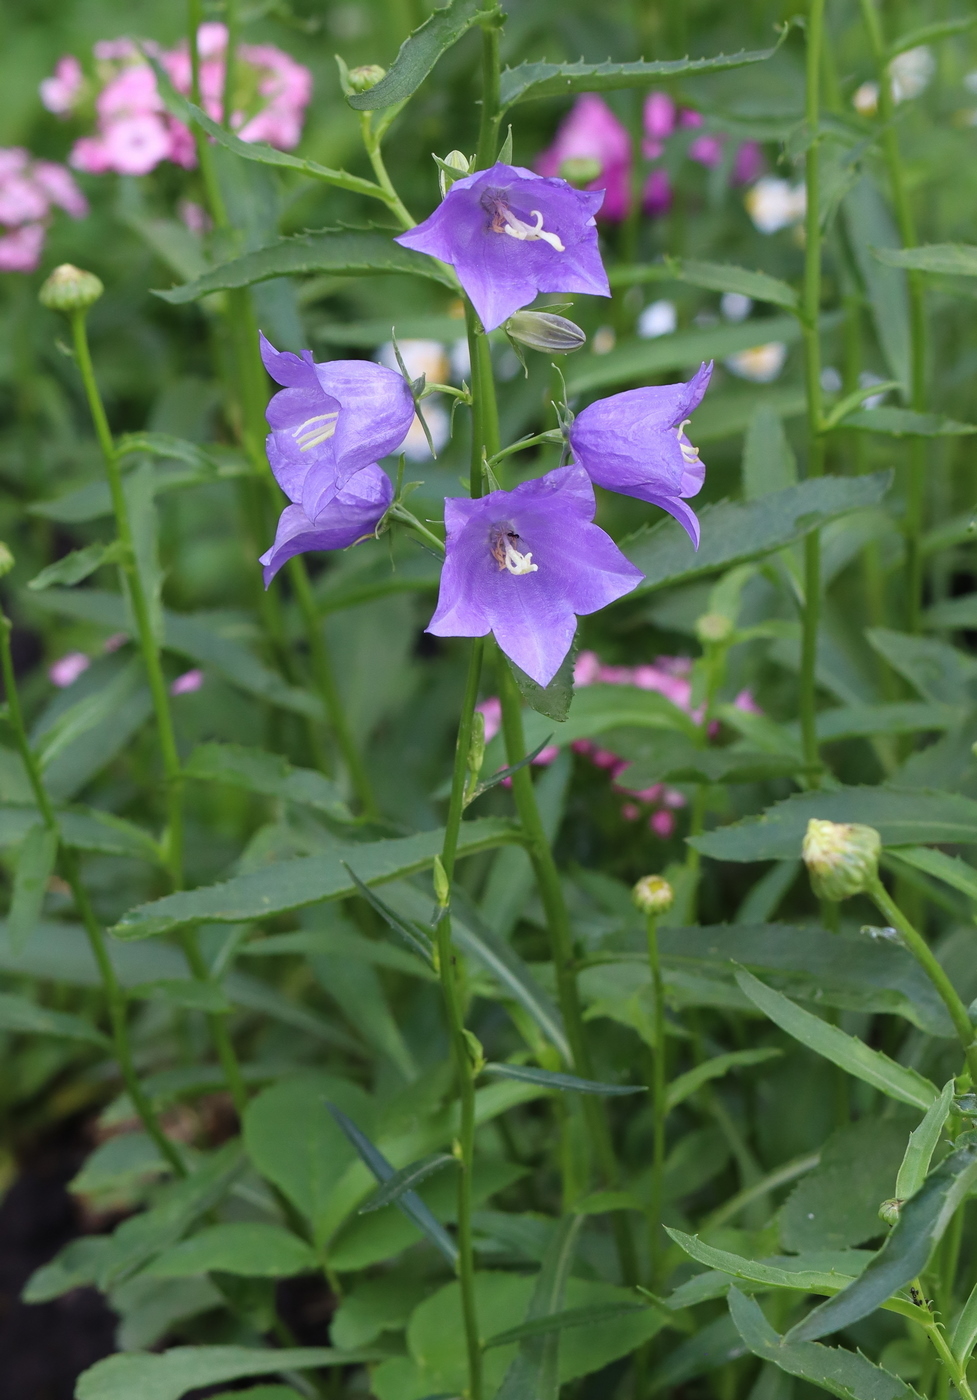
[[[819,83],[822,70],[822,43],[824,38],[824,0],[810,0],[808,10],[808,64],[806,64],[806,122],[808,154],[805,185],[808,209],[805,216],[803,255],[803,374],[808,398],[808,476],[820,476],[824,470],[824,444],[822,437],[822,386],[820,386],[820,340],[817,315],[820,311],[822,262],[820,262],[820,102]],[[801,638],[801,736],[808,776],[813,785],[819,783],[820,759],[817,753],[817,627],[820,620],[820,536],[812,531],[803,542],[803,626]]]

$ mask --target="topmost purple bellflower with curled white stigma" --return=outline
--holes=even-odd
[[[602,190],[493,165],[455,181],[431,217],[396,242],[452,263],[494,330],[537,291],[610,295],[595,224],[602,202]]]

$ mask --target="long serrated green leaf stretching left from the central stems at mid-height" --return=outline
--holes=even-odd
[[[495,818],[463,822],[458,854],[472,855],[515,839],[515,829]],[[326,899],[349,899],[356,893],[353,874],[364,885],[413,875],[431,865],[434,857],[441,854],[442,844],[441,830],[361,846],[337,843],[322,855],[279,861],[221,885],[183,890],[140,904],[123,916],[113,934],[118,938],[150,938],[197,920],[238,924],[284,914]]]

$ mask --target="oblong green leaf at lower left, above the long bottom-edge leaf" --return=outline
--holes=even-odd
[[[291,1278],[319,1267],[315,1253],[291,1231],[269,1221],[209,1225],[158,1254],[147,1273],[154,1278],[189,1278],[220,1270],[246,1278]]]

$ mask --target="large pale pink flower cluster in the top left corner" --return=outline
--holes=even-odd
[[[190,95],[190,52],[144,45],[165,69],[178,92]],[[200,102],[216,122],[223,119],[227,27],[202,24]],[[132,39],[104,39],[95,45],[95,78],[88,83],[73,56],[59,60],[41,84],[41,101],[59,116],[84,115],[94,95],[95,132],[74,143],[70,161],[91,175],[147,175],[160,161],[190,169],[196,165],[193,136],[165,111],[155,73]],[[298,144],[312,74],[281,49],[242,43],[237,50],[231,127],[244,141],[267,141],[280,150]]]

